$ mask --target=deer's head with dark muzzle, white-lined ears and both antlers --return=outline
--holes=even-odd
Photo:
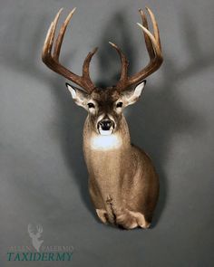
[[[92,128],[95,132],[97,132],[97,134],[111,135],[120,128],[123,109],[128,105],[135,103],[140,98],[141,91],[146,83],[144,79],[151,75],[152,72],[156,72],[162,63],[158,24],[154,14],[151,12],[151,9],[148,7],[146,9],[151,17],[153,33],[149,31],[147,18],[142,10],[140,10],[142,24],[138,25],[141,27],[141,30],[144,34],[146,48],[150,56],[150,62],[140,72],[137,72],[129,77],[129,62],[127,61],[122,50],[115,43],[110,42],[112,47],[116,50],[116,52],[118,52],[121,58],[122,70],[120,80],[117,82],[117,84],[113,85],[112,87],[107,87],[104,90],[96,87],[93,84],[89,73],[90,62],[93,54],[97,51],[97,48],[95,48],[92,52],[89,52],[85,58],[83,62],[82,76],[69,71],[59,62],[63,36],[67,25],[73,16],[75,8],[70,14],[68,14],[67,18],[63,22],[55,43],[53,40],[56,31],[56,25],[63,9],[60,9],[60,11],[56,14],[47,33],[42,54],[43,62],[51,70],[53,70],[53,72],[63,75],[63,77],[73,81],[82,88],[76,88],[69,83],[66,83],[75,103],[88,111]]]

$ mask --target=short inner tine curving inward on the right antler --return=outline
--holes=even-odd
[[[112,42],[109,42],[112,47],[119,53],[120,58],[121,58],[121,62],[122,62],[122,70],[121,70],[121,77],[119,82],[117,83],[117,88],[120,90],[122,90],[122,87],[124,86],[125,82],[128,79],[128,66],[129,66],[129,62],[126,58],[126,56],[124,55],[124,53],[122,52],[122,50],[115,44]]]

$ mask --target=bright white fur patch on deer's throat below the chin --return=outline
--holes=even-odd
[[[112,135],[96,135],[91,138],[91,147],[94,150],[117,149],[122,146],[122,138],[117,134]]]

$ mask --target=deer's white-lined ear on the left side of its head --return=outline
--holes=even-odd
[[[87,102],[89,99],[89,95],[86,92],[84,92],[83,90],[76,88],[67,82],[65,84],[67,86],[67,89],[71,92],[72,98],[75,101],[75,103],[78,106],[81,106],[85,110],[87,110]]]

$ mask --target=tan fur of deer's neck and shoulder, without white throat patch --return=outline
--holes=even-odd
[[[99,218],[102,223],[125,229],[148,228],[159,192],[151,159],[131,145],[123,116],[118,129],[122,138],[119,148],[92,148],[91,139],[96,134],[88,117],[83,129],[83,152],[89,172],[89,191]]]

